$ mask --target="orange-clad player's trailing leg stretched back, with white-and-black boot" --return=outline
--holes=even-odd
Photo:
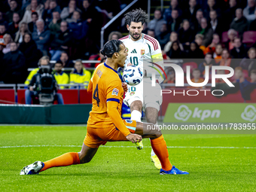
[[[89,163],[90,160],[93,159],[97,150],[98,148],[89,148],[83,143],[82,149],[79,153],[69,152],[46,162],[36,161],[29,166],[24,166],[20,171],[20,175],[35,175],[51,167]]]

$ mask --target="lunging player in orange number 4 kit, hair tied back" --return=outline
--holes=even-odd
[[[96,68],[96,72],[88,85],[88,92],[93,93],[93,108],[87,122],[87,136],[80,152],[62,154],[46,162],[36,161],[25,166],[20,175],[34,175],[56,166],[70,166],[88,163],[99,148],[106,142],[130,141],[140,142],[142,138],[150,138],[151,146],[160,160],[162,169],[160,174],[188,174],[172,166],[166,142],[159,129],[154,129],[153,123],[141,123],[136,120],[122,120],[121,106],[123,103],[123,87],[117,68],[123,67],[126,56],[126,47],[120,40],[108,41],[102,55],[108,59]],[[150,128],[150,129],[148,129]]]

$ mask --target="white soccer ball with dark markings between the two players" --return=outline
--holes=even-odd
[[[123,81],[129,85],[137,85],[142,82],[142,69],[137,66],[128,66],[123,71]]]

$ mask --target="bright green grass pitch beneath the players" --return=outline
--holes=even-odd
[[[256,135],[164,135],[172,164],[190,175],[159,175],[149,139],[142,151],[108,142],[90,163],[19,175],[36,160],[80,151],[85,134],[85,126],[0,126],[0,191],[256,190]]]

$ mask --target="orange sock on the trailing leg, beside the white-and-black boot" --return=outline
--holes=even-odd
[[[80,164],[80,159],[78,153],[66,153],[52,160],[44,162],[44,168],[40,172],[49,169],[54,166],[71,166],[75,164]]]

